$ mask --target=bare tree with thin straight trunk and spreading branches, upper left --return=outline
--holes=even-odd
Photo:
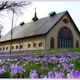
[[[24,6],[29,5],[31,1],[1,1],[0,2],[0,11],[3,10],[9,10],[12,11],[12,25],[11,25],[11,42],[10,42],[10,54],[11,54],[11,48],[12,48],[12,35],[13,35],[13,23],[14,23],[14,14],[18,13],[18,11],[21,11],[20,9],[24,8]]]

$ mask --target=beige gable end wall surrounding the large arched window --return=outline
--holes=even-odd
[[[64,20],[67,20],[67,22],[65,22]],[[73,40],[74,40],[74,46],[76,41],[80,41],[80,33],[79,30],[77,29],[77,27],[75,26],[74,22],[72,22],[71,17],[69,16],[68,12],[66,12],[59,20],[58,22],[53,25],[51,27],[51,29],[48,31],[47,35],[46,35],[46,46],[47,48],[50,48],[50,40],[53,37],[54,38],[54,46],[55,48],[57,48],[57,41],[58,41],[58,33],[59,30],[62,27],[67,27],[70,29],[70,31],[73,34]]]

